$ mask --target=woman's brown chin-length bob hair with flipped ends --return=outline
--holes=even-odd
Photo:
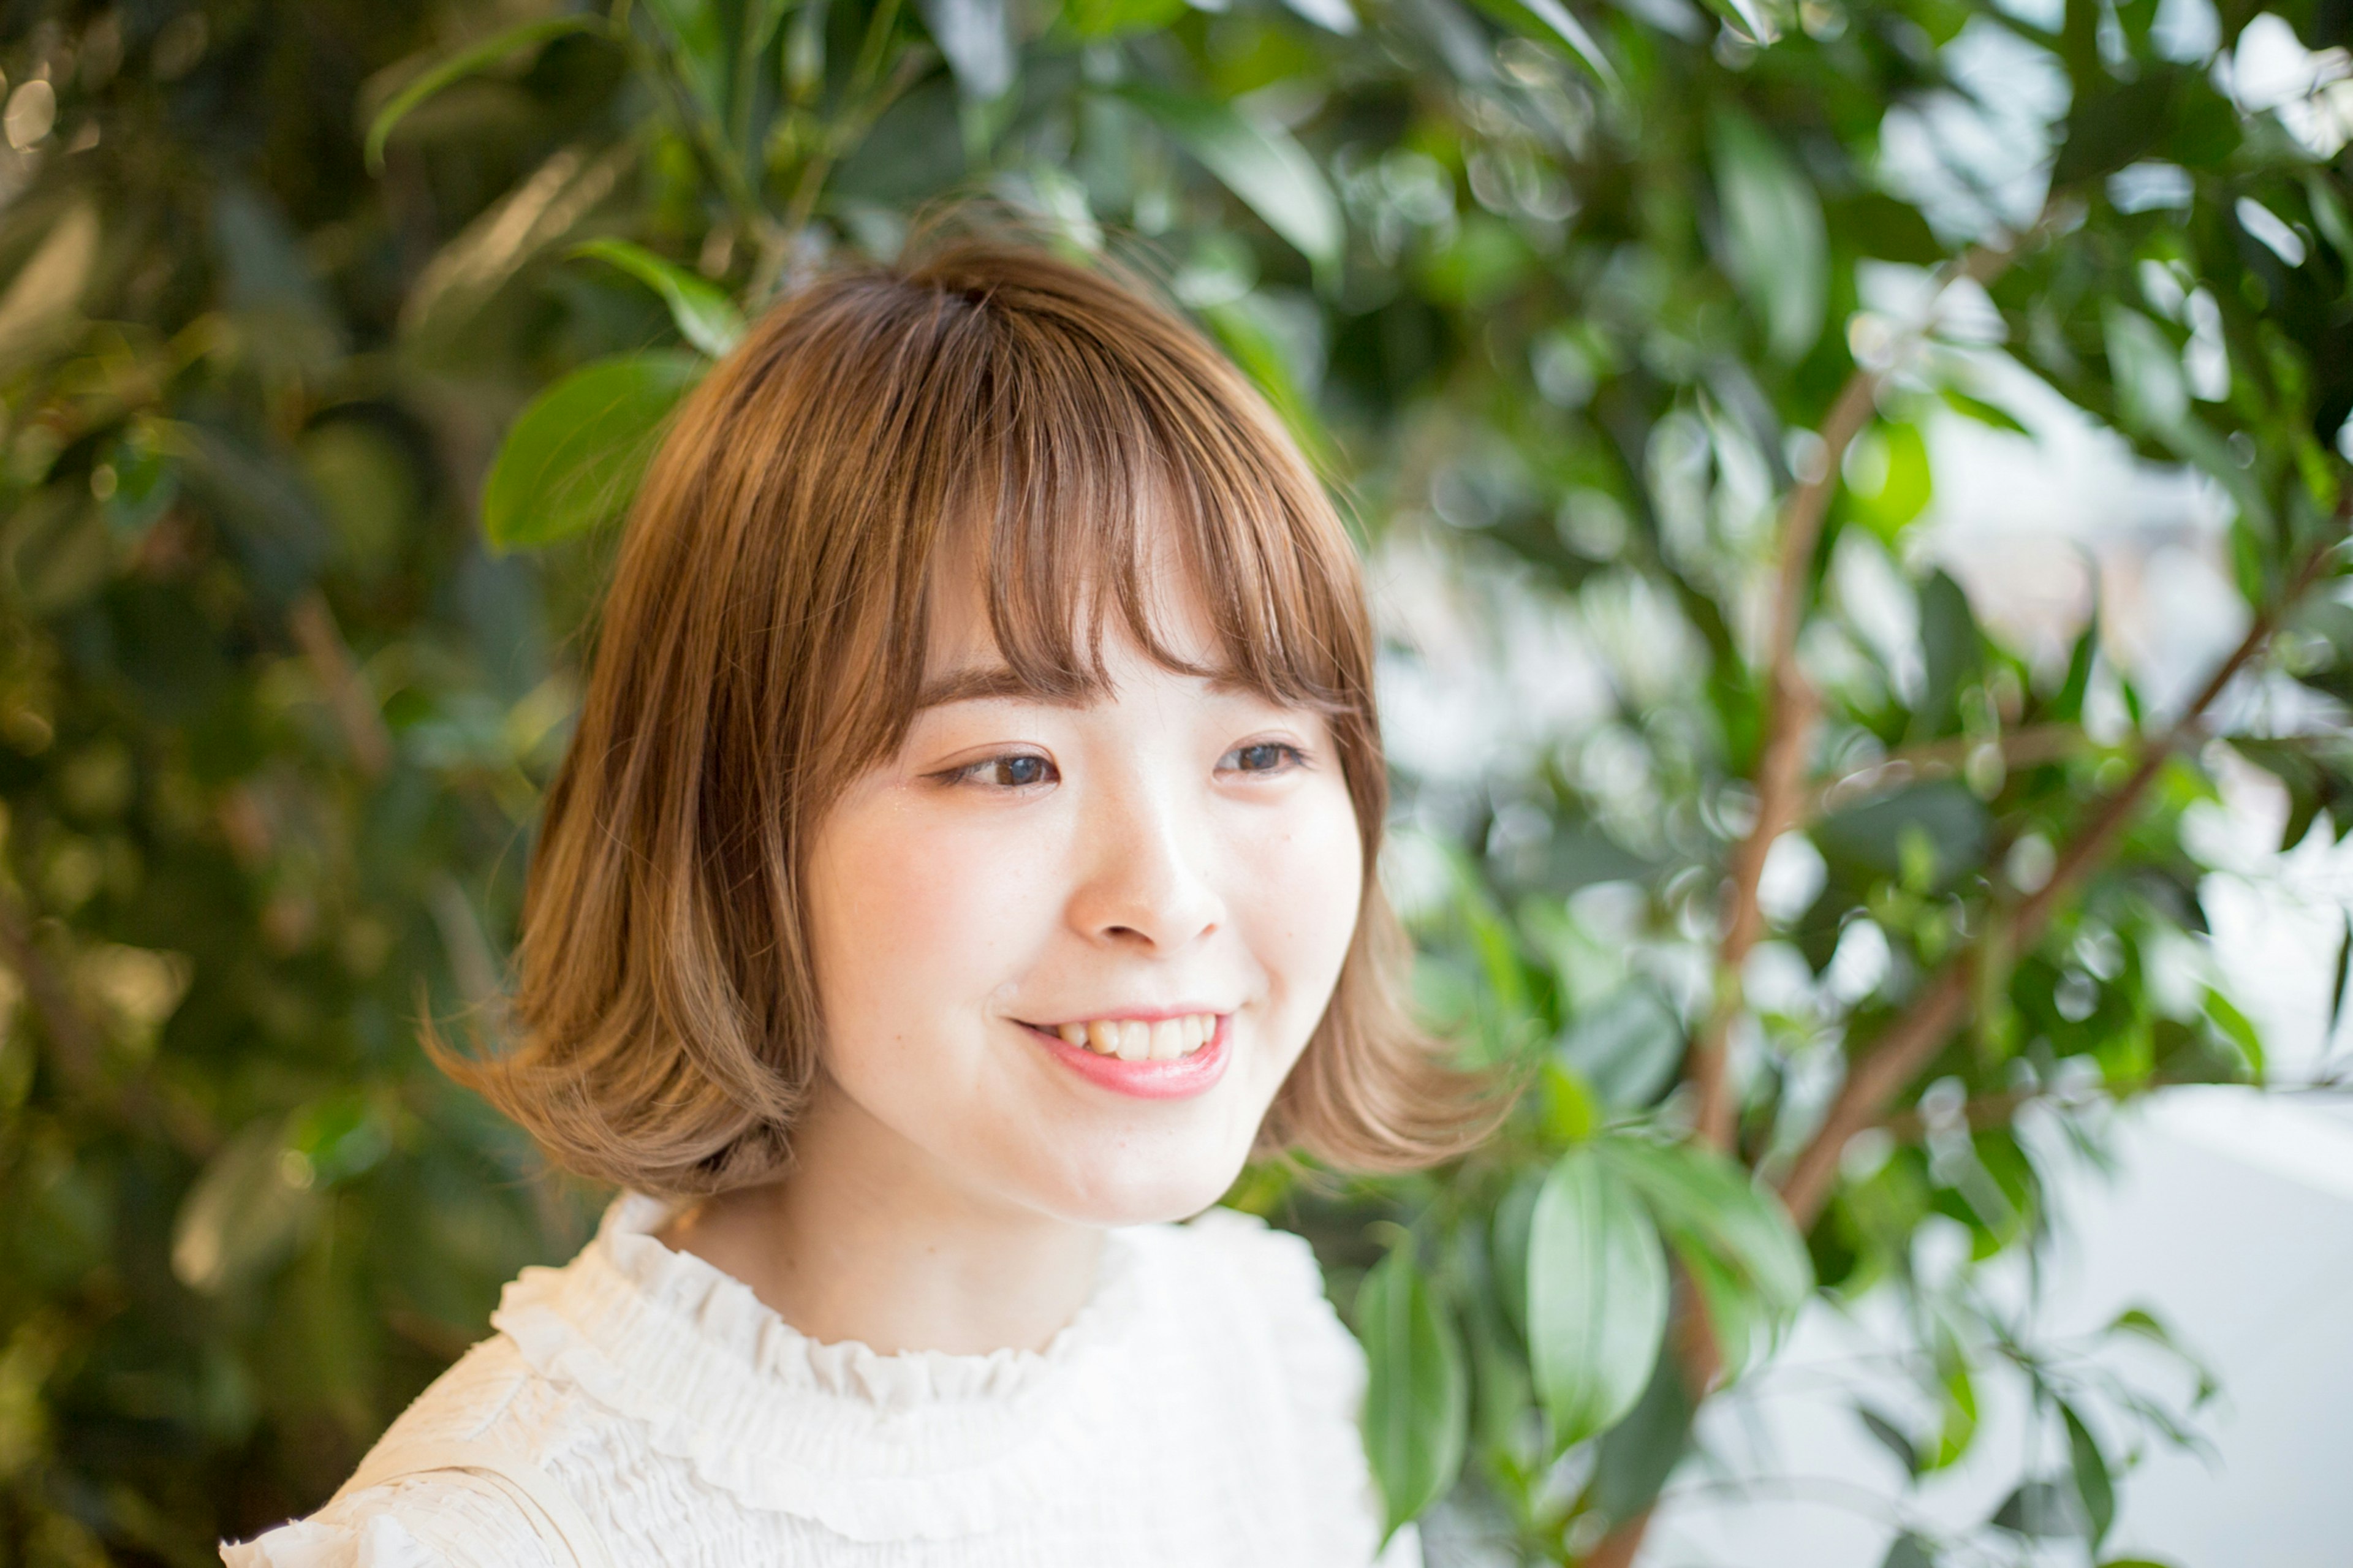
[[[1221,669],[1146,605],[1167,518]],[[579,1175],[664,1196],[781,1175],[816,1069],[802,852],[896,751],[944,546],[1040,695],[1101,690],[1101,622],[1325,713],[1365,845],[1334,996],[1259,1132],[1344,1170],[1492,1121],[1398,996],[1374,866],[1388,779],[1355,549],[1249,384],[1125,268],[988,233],[845,266],[680,407],[638,494],[532,855],[506,1055],[452,1076]],[[1167,556],[1160,556],[1167,560]]]

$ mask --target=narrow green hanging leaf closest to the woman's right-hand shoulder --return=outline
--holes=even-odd
[[[1412,1245],[1377,1262],[1355,1295],[1365,1342],[1365,1455],[1386,1507],[1384,1537],[1454,1486],[1471,1431],[1471,1384],[1454,1326]]]

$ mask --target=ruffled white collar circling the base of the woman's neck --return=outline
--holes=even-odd
[[[1094,1295],[1042,1351],[951,1356],[802,1335],[656,1241],[668,1212],[624,1194],[579,1257],[508,1283],[492,1326],[706,1483],[871,1542],[1000,1528],[1068,1488],[1118,1420],[1172,1229],[1108,1231]]]

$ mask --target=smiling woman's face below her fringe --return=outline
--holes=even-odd
[[[1005,695],[953,598],[941,699],[809,850],[828,1125],[807,1147],[852,1137],[871,1170],[1059,1220],[1191,1215],[1242,1168],[1355,930],[1332,737],[1151,662],[1118,619],[1106,695]],[[1209,662],[1198,603],[1158,624]]]

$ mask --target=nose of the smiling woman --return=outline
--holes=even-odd
[[[1096,942],[1162,954],[1226,918],[1205,876],[1209,824],[1146,779],[1104,782],[1085,808],[1071,925]]]

